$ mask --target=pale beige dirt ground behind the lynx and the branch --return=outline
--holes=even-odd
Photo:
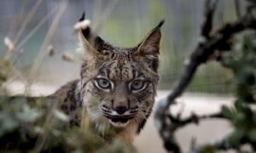
[[[7,87],[12,94],[24,93],[25,85],[22,82],[9,83]],[[44,84],[35,84],[28,91],[32,95],[48,95],[54,93],[56,87]],[[165,97],[169,92],[159,91],[157,99]],[[196,114],[209,114],[219,111],[221,105],[230,105],[233,99],[230,96],[219,96],[212,94],[184,94],[173,106],[172,112],[183,110],[183,116],[189,116],[191,112]],[[157,105],[157,103],[155,104]],[[177,131],[177,141],[183,152],[189,150],[191,139],[196,144],[206,144],[214,140],[222,139],[225,134],[231,132],[228,122],[222,120],[211,120],[200,122],[199,125],[189,125]],[[156,128],[154,127],[154,112],[149,117],[142,133],[135,139],[134,145],[139,153],[161,153],[166,152]]]

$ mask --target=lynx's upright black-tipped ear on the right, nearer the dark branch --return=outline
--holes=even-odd
[[[134,53],[135,56],[143,58],[154,71],[157,71],[160,60],[160,27],[163,24],[164,20],[161,20],[159,25],[150,31],[143,42],[138,45],[137,51]]]

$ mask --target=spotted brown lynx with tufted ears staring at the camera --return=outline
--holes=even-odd
[[[84,14],[79,21],[84,21]],[[114,47],[97,36],[89,25],[78,30],[83,52],[80,78],[49,96],[70,117],[71,126],[80,125],[77,110],[84,108],[85,116],[105,139],[132,142],[141,132],[152,111],[159,82],[163,23],[134,48]],[[107,137],[110,129],[116,134]]]

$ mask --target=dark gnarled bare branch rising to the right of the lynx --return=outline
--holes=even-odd
[[[207,0],[206,10],[204,15],[204,22],[201,26],[201,41],[198,43],[195,50],[190,54],[186,62],[183,75],[176,86],[173,88],[172,93],[165,99],[160,99],[156,105],[154,114],[155,125],[163,139],[166,150],[172,152],[180,152],[179,145],[174,137],[174,132],[184,125],[191,122],[199,122],[204,116],[190,116],[187,119],[180,120],[175,118],[169,112],[169,107],[174,104],[175,99],[183,94],[184,89],[189,85],[189,82],[195,75],[195,71],[199,65],[207,62],[207,60],[215,54],[216,51],[222,52],[230,50],[230,38],[236,33],[248,29],[256,30],[256,20],[250,13],[249,8],[247,14],[239,18],[234,23],[227,23],[218,28],[217,31],[212,31],[212,18],[217,5],[217,0]],[[212,116],[213,117],[213,116]],[[223,117],[223,116],[214,116]]]

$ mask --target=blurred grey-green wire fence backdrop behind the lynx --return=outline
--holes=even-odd
[[[67,4],[67,7],[65,4]],[[243,3],[241,3],[243,4]],[[215,26],[236,19],[233,0],[219,1]],[[63,13],[60,13],[60,9]],[[170,89],[183,71],[183,61],[198,40],[203,14],[203,0],[1,0],[0,57],[6,55],[4,37],[15,43],[13,80],[29,79],[39,50],[51,47],[54,56],[43,54],[42,65],[33,74],[35,82],[61,85],[79,75],[79,62],[65,62],[62,54],[76,54],[78,39],[73,25],[83,11],[92,26],[108,42],[116,46],[132,47],[162,19],[160,89]],[[59,13],[60,20],[56,22]],[[49,40],[45,42],[47,34]],[[44,45],[42,47],[42,45]],[[190,91],[229,93],[230,71],[218,63],[204,65],[198,71]]]

